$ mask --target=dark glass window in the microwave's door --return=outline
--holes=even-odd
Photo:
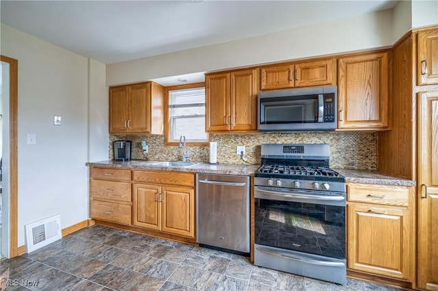
[[[261,100],[263,124],[314,123],[318,122],[318,98],[300,100]],[[282,98],[284,99],[284,98]]]

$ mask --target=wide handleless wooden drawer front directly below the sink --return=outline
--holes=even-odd
[[[176,171],[133,171],[133,181],[194,187],[194,174]]]

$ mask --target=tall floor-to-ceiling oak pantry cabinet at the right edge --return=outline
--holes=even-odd
[[[392,53],[393,130],[378,134],[378,169],[417,182],[413,288],[438,290],[438,27],[409,33]]]

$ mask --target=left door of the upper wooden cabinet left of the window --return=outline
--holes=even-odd
[[[110,133],[128,132],[128,91],[128,86],[110,88]]]

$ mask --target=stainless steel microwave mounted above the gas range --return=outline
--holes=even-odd
[[[259,92],[257,129],[311,131],[337,128],[337,87]]]

